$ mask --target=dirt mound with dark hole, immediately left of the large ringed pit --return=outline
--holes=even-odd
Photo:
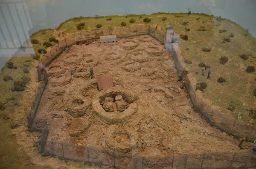
[[[86,97],[75,95],[68,100],[66,110],[72,117],[81,117],[90,114],[91,104]]]

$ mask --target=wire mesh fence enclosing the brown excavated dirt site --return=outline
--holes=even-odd
[[[44,69],[53,60],[55,60],[62,52],[70,46],[77,44],[79,40],[96,40],[101,35],[116,34],[117,37],[134,37],[148,34],[154,37],[161,43],[166,41],[166,35],[160,31],[155,30],[151,26],[138,26],[134,28],[115,28],[115,29],[101,29],[94,31],[78,32],[69,37],[60,40],[58,44],[53,46],[50,52],[43,56],[41,65],[38,65],[38,77],[42,80],[32,101],[31,110],[27,116],[29,128],[42,132],[40,143],[41,152],[46,155],[55,155],[57,157],[66,158],[70,160],[82,161],[84,163],[98,163],[102,165],[111,165],[124,169],[209,169],[209,168],[225,168],[225,167],[255,167],[256,155],[250,152],[221,152],[221,153],[205,153],[199,155],[172,155],[165,157],[140,157],[130,154],[125,154],[118,151],[98,149],[91,146],[79,146],[75,144],[59,143],[47,141],[49,129],[46,119],[35,118],[40,104],[41,97],[47,85],[47,72]],[[173,60],[178,72],[183,72],[183,77],[187,78],[186,89],[189,92],[190,98],[195,109],[213,126],[232,134],[232,135],[255,135],[255,128],[247,127],[247,125],[236,122],[230,118],[218,115],[218,112],[205,105],[202,100],[196,96],[193,86],[191,85],[187,74],[181,63],[178,60],[177,54],[171,50]],[[215,117],[214,117],[215,116]],[[218,120],[218,118],[221,118]],[[224,120],[223,120],[224,119]],[[233,124],[230,129],[230,124]],[[231,125],[232,126],[232,125]],[[246,131],[247,130],[247,131]],[[250,134],[252,133],[252,134]],[[250,137],[252,138],[252,137]]]

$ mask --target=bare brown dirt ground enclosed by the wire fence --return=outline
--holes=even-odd
[[[68,54],[83,52],[82,60],[90,59],[99,64],[93,66],[94,78],[74,78],[70,75],[73,66],[81,63],[64,66],[67,69],[65,77],[71,80],[64,86],[52,86],[55,77],[48,77],[49,83],[41,99],[37,117],[46,118],[49,125],[48,141],[64,142],[82,146],[94,146],[104,149],[119,149],[121,152],[140,156],[164,156],[173,154],[199,154],[202,152],[235,152],[238,140],[212,128],[193,111],[187,93],[180,89],[180,82],[176,82],[177,74],[171,56],[156,40],[148,36],[134,37],[141,42],[135,48],[123,49],[119,44],[129,42],[120,39],[118,43],[92,43],[88,46],[75,46],[75,50]],[[127,43],[125,43],[127,45]],[[132,44],[133,45],[133,44]],[[155,46],[159,55],[148,54],[147,47]],[[127,50],[130,49],[130,50]],[[93,54],[91,54],[95,51]],[[118,51],[118,52],[116,52]],[[88,54],[86,54],[88,52]],[[122,54],[122,57],[111,58],[110,52]],[[143,62],[131,60],[133,53],[147,55]],[[66,57],[68,54],[64,54]],[[106,60],[104,56],[109,55]],[[63,63],[62,55],[51,65]],[[111,89],[98,91],[96,77],[108,75],[113,78],[114,86]],[[58,79],[57,79],[58,80]],[[124,120],[105,121],[96,116],[91,101],[96,95],[107,94],[112,91],[126,90],[138,97],[132,104],[137,105],[136,112],[125,117]],[[117,96],[118,97],[118,96]],[[67,103],[81,99],[72,111],[79,112],[79,117],[73,117],[68,111]],[[116,101],[124,109],[125,98],[119,97]],[[108,98],[111,99],[111,98]],[[104,106],[110,106],[104,101]],[[88,103],[85,103],[88,102]],[[99,99],[100,102],[100,99]],[[98,106],[101,106],[100,103]],[[108,104],[108,105],[107,105]],[[87,109],[83,109],[85,105]],[[121,109],[121,108],[120,108]],[[104,110],[105,111],[105,110]],[[105,112],[115,113],[115,112]],[[59,114],[59,116],[58,116]],[[56,116],[57,115],[57,116]],[[112,123],[113,122],[113,123]],[[249,149],[249,147],[246,147]],[[243,150],[241,150],[243,151]]]

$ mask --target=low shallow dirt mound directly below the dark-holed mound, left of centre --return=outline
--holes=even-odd
[[[90,117],[73,118],[67,132],[71,137],[78,137],[90,127]]]

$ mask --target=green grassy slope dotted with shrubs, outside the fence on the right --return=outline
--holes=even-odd
[[[196,19],[198,17],[199,20]],[[182,25],[185,20],[189,22],[186,26]],[[256,67],[256,38],[251,34],[245,36],[246,29],[239,24],[226,19],[218,22],[213,16],[192,14],[180,18],[169,17],[168,22],[175,33],[188,36],[188,40],[180,40],[180,56],[189,71],[193,86],[200,82],[207,83],[202,95],[212,105],[218,106],[222,113],[237,120],[256,124],[256,119],[251,118],[247,111],[256,109],[256,97],[253,95],[256,72],[246,72],[247,66]],[[185,27],[190,31],[186,31]],[[202,28],[207,31],[199,31]],[[219,30],[227,32],[219,33]],[[223,43],[224,38],[231,33],[234,37],[230,37],[230,42]],[[203,52],[203,47],[210,47],[212,50]],[[248,60],[243,60],[239,57],[242,53],[251,56]],[[219,63],[220,57],[224,56],[228,57],[227,63]],[[191,60],[192,64],[186,64],[184,60]],[[211,79],[201,75],[201,67],[198,66],[201,62],[211,67]],[[226,82],[218,83],[219,77],[224,77]],[[235,105],[234,111],[227,109],[230,104]]]

